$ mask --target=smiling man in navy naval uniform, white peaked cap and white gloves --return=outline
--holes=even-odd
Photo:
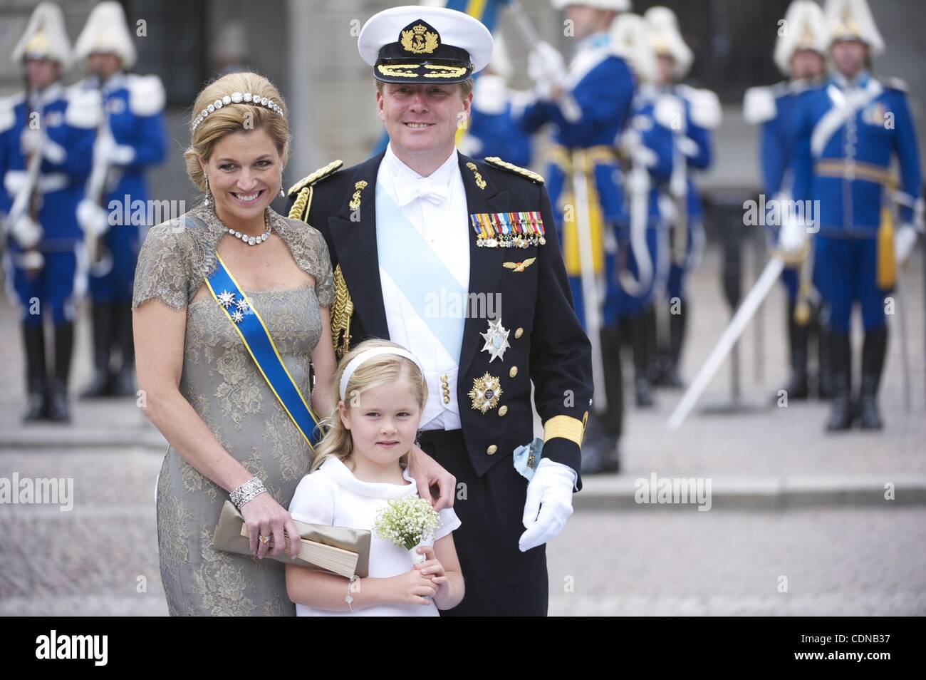
[[[592,384],[543,178],[454,147],[469,78],[492,55],[479,21],[395,7],[369,19],[359,49],[389,146],[297,183],[290,217],[331,250],[339,356],[382,337],[424,367],[419,444],[433,460],[416,456],[412,472],[422,497],[436,469],[456,477],[462,521],[454,538],[466,595],[442,614],[545,615],[544,544],[582,487]],[[544,423],[537,441],[532,384]]]

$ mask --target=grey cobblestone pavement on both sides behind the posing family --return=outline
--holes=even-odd
[[[915,256],[920,263],[921,253]],[[696,309],[684,374],[694,376],[729,312],[720,302],[717,258],[692,281]],[[839,487],[926,472],[923,441],[922,269],[907,274],[912,403],[892,320],[882,433],[821,432],[826,407],[792,402],[736,416],[693,414],[682,430],[665,421],[679,393],[656,409],[629,409],[619,480],[709,476],[772,483],[813,478]],[[756,332],[742,344],[743,401],[758,406],[785,378],[782,295],[761,325],[765,375],[753,361]],[[860,344],[857,337],[857,344]],[[74,402],[69,426],[23,427],[23,376],[15,312],[0,301],[0,478],[73,480],[74,507],[0,505],[0,614],[167,613],[157,565],[154,490],[165,445],[132,399]],[[81,324],[72,392],[90,377],[89,329]],[[629,362],[628,362],[629,363]],[[729,400],[729,365],[706,403]],[[591,489],[598,480],[589,478]],[[606,480],[607,484],[607,480]],[[720,484],[719,484],[720,486]],[[924,614],[926,505],[884,501],[826,508],[744,510],[579,503],[548,546],[550,613],[575,614]],[[779,592],[782,577],[787,592]]]

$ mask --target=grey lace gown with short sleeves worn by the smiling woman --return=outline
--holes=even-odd
[[[268,220],[316,285],[244,292],[308,399],[310,353],[321,335],[319,308],[329,307],[333,297],[331,260],[324,239],[312,227],[272,210]],[[311,463],[306,441],[215,300],[193,301],[215,266],[216,246],[226,233],[214,211],[205,207],[152,227],[135,271],[132,308],[151,298],[186,308],[181,394],[225,450],[287,508]],[[168,448],[157,480],[157,544],[170,614],[294,616],[282,562],[213,547],[212,533],[228,497]]]

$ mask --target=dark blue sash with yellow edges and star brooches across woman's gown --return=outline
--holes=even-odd
[[[225,266],[225,262],[216,253],[218,265],[216,271],[206,276],[206,285],[219,308],[232,322],[234,330],[241,336],[244,348],[257,364],[257,370],[264,376],[270,391],[280,401],[299,432],[306,438],[308,447],[315,453],[315,445],[321,439],[319,419],[306,398],[296,386],[293,376],[286,369],[277,346],[270,337],[267,324],[260,318],[257,309],[251,300],[244,295],[244,291],[232,272]]]

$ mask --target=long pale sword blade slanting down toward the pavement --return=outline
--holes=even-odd
[[[697,400],[704,393],[707,385],[710,384],[710,381],[720,369],[720,364],[722,364],[723,360],[730,354],[730,350],[745,331],[746,325],[748,325],[749,321],[756,314],[757,309],[762,305],[766,296],[769,295],[775,282],[778,281],[778,277],[782,275],[783,269],[784,261],[777,256],[773,256],[768,264],[766,264],[756,284],[749,291],[748,295],[745,296],[745,300],[743,300],[740,308],[736,310],[727,329],[720,335],[720,340],[717,345],[714,346],[710,356],[707,357],[707,361],[705,361],[701,370],[698,371],[697,375],[694,377],[692,384],[688,386],[682,400],[672,411],[672,415],[669,417],[669,422],[667,423],[670,430],[674,431],[682,427],[682,423],[685,422],[688,414],[694,409],[694,404],[697,403]]]

